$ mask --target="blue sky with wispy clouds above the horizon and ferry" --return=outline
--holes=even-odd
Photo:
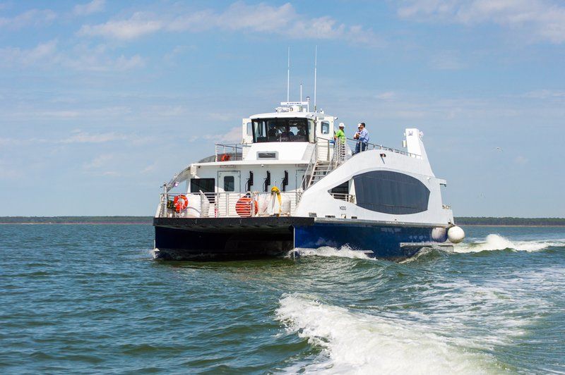
[[[422,130],[455,216],[565,216],[558,0],[1,1],[0,216],[153,215],[316,46],[319,107]]]

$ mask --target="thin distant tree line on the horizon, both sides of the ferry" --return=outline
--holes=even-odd
[[[456,217],[460,226],[565,226],[565,218]],[[0,224],[150,224],[152,216],[0,216]]]

